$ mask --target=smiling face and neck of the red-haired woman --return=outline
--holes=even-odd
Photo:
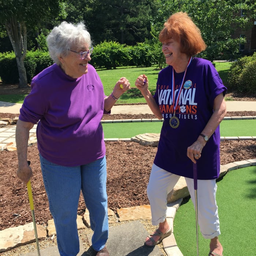
[[[165,55],[166,64],[173,66],[176,72],[183,72],[188,62],[188,55],[180,51],[180,42],[169,38],[162,42],[162,52]],[[183,70],[184,69],[184,70]]]

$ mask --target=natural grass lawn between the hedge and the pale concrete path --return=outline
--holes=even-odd
[[[219,72],[223,83],[226,84],[227,72],[230,68],[230,62],[216,62],[216,69]],[[98,70],[99,77],[104,86],[104,91],[106,95],[109,95],[116,82],[121,77],[126,77],[131,83],[131,87],[135,87],[135,80],[141,74],[145,74],[149,80],[149,90],[152,94],[155,92],[155,87],[157,84],[157,77],[160,69],[157,65],[148,68],[136,68],[136,67],[120,67],[111,70]],[[26,94],[9,94],[0,95],[0,101],[12,102],[12,103],[23,103]],[[146,103],[145,99],[142,97],[138,89],[131,89],[124,93],[118,100],[117,104],[128,104],[128,103]]]

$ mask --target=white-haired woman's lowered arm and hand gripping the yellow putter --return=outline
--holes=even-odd
[[[18,154],[18,171],[17,176],[26,185],[30,177],[32,177],[32,170],[27,163],[27,144],[29,141],[29,131],[34,126],[33,123],[18,120],[16,126],[16,147]]]

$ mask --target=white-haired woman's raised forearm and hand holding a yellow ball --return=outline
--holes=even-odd
[[[120,87],[120,84],[122,84],[123,88]],[[110,109],[114,106],[116,101],[120,98],[120,96],[127,90],[129,90],[130,83],[129,80],[126,79],[125,77],[120,78],[116,85],[114,86],[114,89],[112,93],[105,97],[104,99],[104,109],[109,112]]]

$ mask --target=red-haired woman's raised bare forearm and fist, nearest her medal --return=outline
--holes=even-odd
[[[144,84],[144,81],[146,83]],[[163,116],[161,114],[161,111],[159,109],[159,106],[155,102],[155,99],[153,98],[153,95],[150,93],[150,90],[148,90],[148,79],[146,75],[140,75],[136,82],[135,86],[140,90],[142,93],[143,97],[146,99],[147,105],[150,107],[151,111],[153,114],[158,118],[162,119]]]

